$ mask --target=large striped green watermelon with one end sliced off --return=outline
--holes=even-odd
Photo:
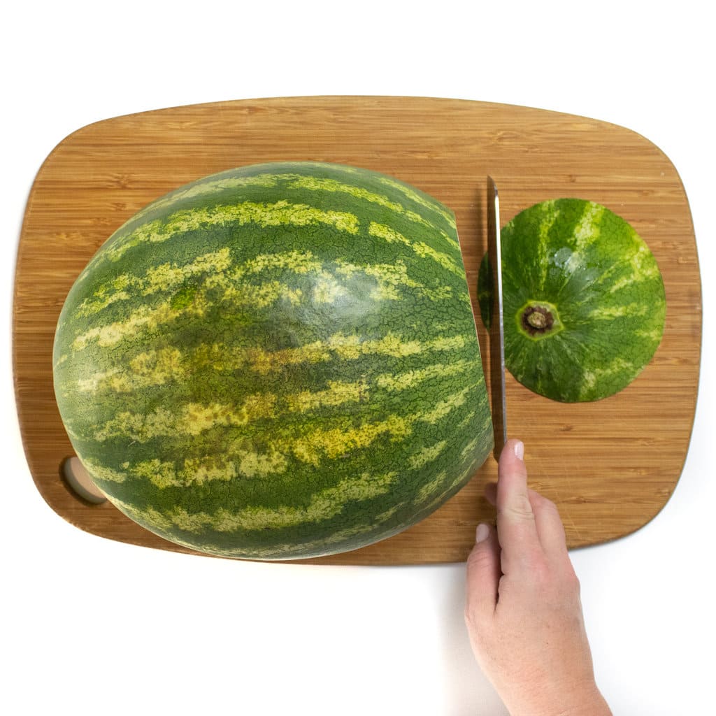
[[[455,217],[360,168],[252,165],[155,200],[77,278],[53,360],[108,500],[218,556],[392,536],[493,445]]]

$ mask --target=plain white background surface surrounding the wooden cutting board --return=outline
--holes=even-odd
[[[47,507],[17,427],[15,253],[27,193],[57,142],[89,122],[160,107],[377,94],[607,120],[647,137],[679,170],[706,317],[687,462],[652,523],[572,558],[598,682],[615,714],[716,714],[716,390],[708,370],[716,359],[715,58],[707,4],[19,5],[4,10],[0,42],[0,712],[504,713],[465,635],[462,565],[284,566],[106,541]]]

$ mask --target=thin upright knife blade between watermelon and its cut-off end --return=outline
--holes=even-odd
[[[502,302],[502,243],[500,242],[500,197],[488,176],[488,262],[492,278],[490,317],[490,397],[492,400],[495,458],[507,442],[507,402],[505,400],[505,329]]]

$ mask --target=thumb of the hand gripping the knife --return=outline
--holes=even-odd
[[[475,546],[468,556],[466,581],[465,620],[470,625],[490,619],[497,606],[500,584],[500,543],[495,528],[478,525]]]

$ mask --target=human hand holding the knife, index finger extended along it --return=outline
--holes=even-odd
[[[527,487],[524,446],[508,440],[486,496],[497,530],[478,526],[468,557],[465,622],[473,652],[512,716],[602,716],[556,506]]]

